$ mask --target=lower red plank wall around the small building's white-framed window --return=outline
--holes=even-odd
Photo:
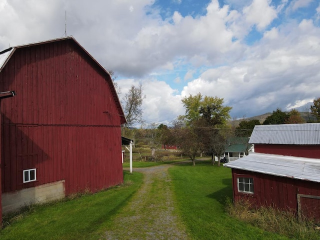
[[[250,176],[254,180],[254,193],[237,191],[237,177]],[[232,168],[234,200],[249,199],[256,206],[273,206],[280,209],[298,209],[297,194],[320,196],[320,183],[280,177]]]

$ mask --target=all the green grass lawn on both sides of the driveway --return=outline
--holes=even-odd
[[[150,163],[162,164],[146,165]],[[212,166],[209,161],[196,162],[195,166],[187,162],[172,166],[169,174],[171,181],[167,184],[175,191],[176,212],[192,239],[288,239],[230,217],[224,211],[225,198],[232,196],[229,168]],[[0,239],[99,239],[142,179],[141,173],[124,171],[124,180],[130,184],[32,207],[29,213],[17,216],[0,230]]]

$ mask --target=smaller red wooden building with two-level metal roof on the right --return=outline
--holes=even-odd
[[[256,125],[254,153],[225,163],[234,201],[293,209],[320,221],[320,123]]]

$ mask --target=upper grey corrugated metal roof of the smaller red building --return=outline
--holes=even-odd
[[[320,123],[255,125],[249,143],[320,144]]]

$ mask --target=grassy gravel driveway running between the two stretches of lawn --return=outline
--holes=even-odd
[[[181,219],[173,214],[175,206],[167,172],[170,166],[133,168],[133,172],[144,174],[143,183],[115,215],[112,229],[102,239],[189,239]]]

